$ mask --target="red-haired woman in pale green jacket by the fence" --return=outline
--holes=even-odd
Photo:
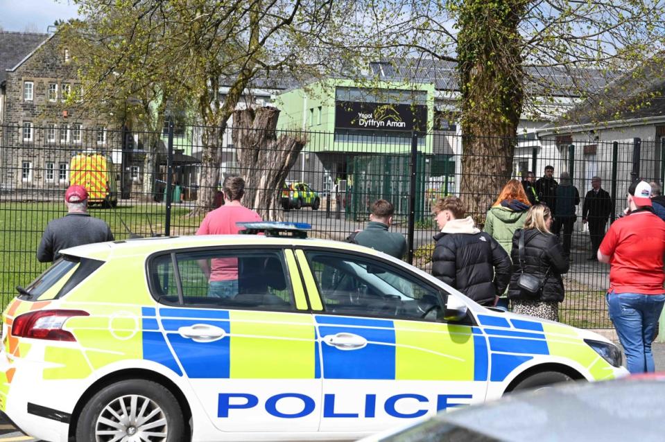
[[[524,193],[524,186],[511,179],[506,186],[503,186],[499,197],[487,212],[485,218],[485,232],[499,242],[501,247],[506,250],[508,256],[512,251],[512,237],[517,229],[524,227],[526,212],[530,207],[528,197]],[[508,309],[508,298],[501,297],[496,303],[496,307]]]

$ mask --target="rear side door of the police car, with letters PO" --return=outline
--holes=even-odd
[[[176,251],[149,268],[157,323],[219,430],[318,430],[313,317],[291,250]]]

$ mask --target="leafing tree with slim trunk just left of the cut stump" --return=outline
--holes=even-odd
[[[196,107],[202,173],[200,207],[193,215],[214,202],[223,134],[252,80],[273,73],[311,78],[336,60],[311,47],[331,32],[332,0],[76,2],[90,41],[105,53],[84,63],[82,76],[89,87],[121,83],[134,93],[157,85],[162,103],[164,98],[191,100]],[[224,97],[219,94],[222,82],[229,87]]]

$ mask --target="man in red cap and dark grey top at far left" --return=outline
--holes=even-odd
[[[87,213],[88,193],[83,186],[69,186],[64,193],[67,215],[52,220],[42,235],[37,259],[40,263],[60,258],[60,250],[92,242],[112,241],[111,228]]]

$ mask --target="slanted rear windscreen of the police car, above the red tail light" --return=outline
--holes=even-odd
[[[19,288],[20,297],[25,301],[37,301],[37,299],[43,301],[62,297],[102,264],[103,261],[100,260],[62,256],[26,288]],[[51,289],[53,290],[50,296],[42,297]]]

